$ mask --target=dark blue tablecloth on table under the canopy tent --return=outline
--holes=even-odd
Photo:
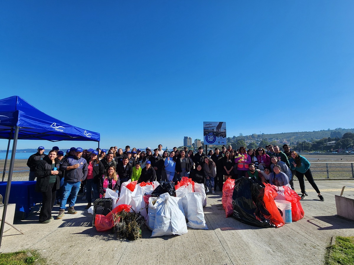
[[[42,193],[35,192],[36,181],[12,181],[9,204],[16,204],[16,211],[29,213],[31,207],[42,200]],[[7,182],[0,181],[0,194],[5,200]]]

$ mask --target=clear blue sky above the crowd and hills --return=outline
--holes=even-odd
[[[1,98],[103,147],[181,146],[203,121],[228,137],[353,128],[353,13],[352,0],[2,1]],[[96,146],[58,143],[76,145]]]

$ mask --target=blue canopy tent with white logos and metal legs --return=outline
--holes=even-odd
[[[8,198],[10,195],[17,140],[47,140],[51,142],[63,140],[95,141],[98,142],[99,147],[100,135],[99,133],[64,123],[61,120],[41,112],[19,96],[11,96],[6,99],[0,99],[0,139],[8,139],[5,166],[2,176],[3,181],[6,171],[10,141],[13,140],[10,168],[8,170],[5,193],[4,211],[2,214],[2,220],[5,220]],[[0,248],[4,224],[5,222],[1,222]]]

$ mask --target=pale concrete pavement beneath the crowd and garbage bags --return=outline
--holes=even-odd
[[[79,204],[77,214],[49,224],[39,224],[38,214],[16,221],[25,234],[6,231],[1,251],[38,249],[49,264],[324,264],[332,236],[354,236],[354,222],[336,216],[334,197],[354,181],[318,181],[324,202],[306,184],[309,196],[301,201],[305,217],[281,228],[256,228],[225,218],[221,193],[216,193],[207,196],[204,208],[209,230],[188,228],[182,236],[150,238],[151,231],[143,229],[142,239],[129,242],[97,232],[85,204]],[[298,182],[295,188],[299,190]],[[354,195],[354,188],[346,194]]]

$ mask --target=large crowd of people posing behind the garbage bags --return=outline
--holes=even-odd
[[[86,192],[88,201],[86,209],[91,207],[92,201],[104,198],[107,188],[119,194],[121,184],[128,181],[181,181],[182,177],[192,178],[194,182],[203,183],[206,193],[215,193],[218,188],[222,191],[226,179],[250,177],[255,181],[270,183],[277,186],[289,185],[292,189],[293,178],[299,180],[301,199],[307,196],[304,177],[324,201],[316,183],[314,182],[309,161],[288,145],[268,145],[257,149],[246,150],[240,147],[233,150],[229,145],[221,149],[216,147],[206,155],[203,147],[193,150],[184,147],[178,150],[174,147],[168,153],[162,150],[162,145],[152,150],[145,150],[126,146],[122,148],[112,146],[107,149],[96,150],[72,147],[66,151],[55,146],[44,154],[44,147],[38,147],[38,152],[31,155],[27,165],[30,168],[29,180],[36,182],[36,191],[43,195],[39,222],[49,223],[52,208],[57,202],[59,214],[57,219],[64,216],[67,203],[68,214],[75,214],[74,209],[80,188]]]

